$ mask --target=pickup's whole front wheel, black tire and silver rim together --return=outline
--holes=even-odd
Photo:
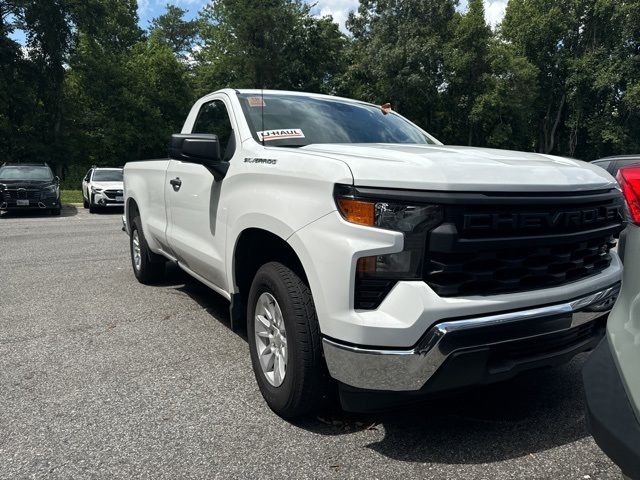
[[[330,383],[309,287],[287,266],[270,262],[256,273],[248,301],[251,363],[265,401],[281,417],[316,410]]]

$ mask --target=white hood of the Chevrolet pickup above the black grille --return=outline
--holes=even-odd
[[[604,169],[539,153],[444,145],[312,144],[345,162],[357,186],[446,191],[545,192],[617,186]]]

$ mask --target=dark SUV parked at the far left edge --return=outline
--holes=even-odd
[[[60,215],[60,179],[46,163],[0,167],[0,210],[47,210]]]

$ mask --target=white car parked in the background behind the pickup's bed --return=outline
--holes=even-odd
[[[123,207],[122,168],[92,167],[82,180],[84,208],[94,213],[99,208]]]

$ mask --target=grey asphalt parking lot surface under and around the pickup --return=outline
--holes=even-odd
[[[620,478],[585,429],[585,355],[289,423],[221,297],[175,269],[136,282],[120,214],[0,215],[0,285],[0,478]]]

